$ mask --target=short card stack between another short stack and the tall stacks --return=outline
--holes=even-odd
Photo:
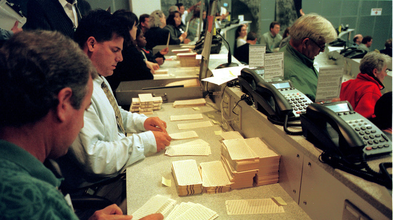
[[[208,194],[231,191],[231,181],[221,161],[201,163],[202,188]]]

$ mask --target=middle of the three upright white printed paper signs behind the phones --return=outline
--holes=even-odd
[[[284,53],[265,54],[265,80],[284,77]]]

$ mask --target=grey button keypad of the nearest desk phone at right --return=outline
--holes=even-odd
[[[357,134],[363,139],[364,144],[364,152],[368,155],[371,152],[378,151],[386,151],[390,147],[389,139],[381,133],[377,133],[375,130],[375,126],[367,122],[367,120],[348,120],[351,117],[356,117],[356,112],[346,112],[346,113],[337,113],[338,116],[342,117],[351,127],[355,130]],[[347,119],[347,120],[346,120]],[[370,152],[370,153],[367,153]],[[371,153],[373,154],[373,153]]]

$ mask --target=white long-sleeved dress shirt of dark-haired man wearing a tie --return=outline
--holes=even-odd
[[[112,92],[104,77],[93,80],[92,104],[85,112],[84,127],[67,155],[58,160],[65,181],[74,187],[117,176],[127,166],[157,152],[153,132],[143,132],[145,115],[119,107],[125,132],[133,134],[126,137],[118,128],[113,107],[101,88],[103,81]]]

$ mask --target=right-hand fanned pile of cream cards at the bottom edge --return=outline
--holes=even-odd
[[[173,208],[165,220],[213,220],[216,217],[217,212],[199,203],[182,202]]]

